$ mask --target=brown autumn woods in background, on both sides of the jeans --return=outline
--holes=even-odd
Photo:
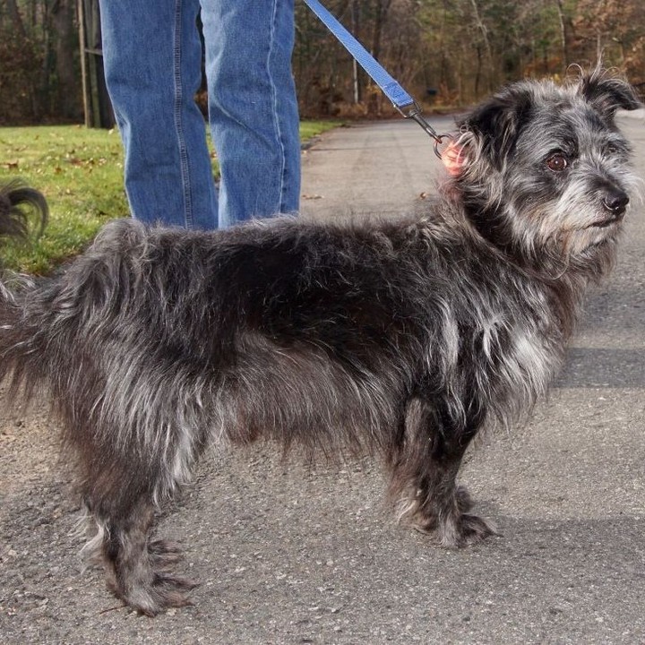
[[[0,0],[0,124],[82,121],[78,4]],[[327,0],[417,99],[461,106],[568,64],[619,67],[645,82],[641,0]],[[142,44],[144,47],[144,44]],[[304,4],[294,70],[304,116],[390,113],[386,99]]]

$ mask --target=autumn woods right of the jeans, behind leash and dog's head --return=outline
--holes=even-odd
[[[599,56],[630,81],[645,82],[641,0],[328,0],[327,6],[417,99],[439,105],[475,102],[525,75],[561,76],[570,64],[595,64]],[[297,29],[305,114],[390,109],[303,6]]]

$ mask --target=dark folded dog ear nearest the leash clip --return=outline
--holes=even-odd
[[[529,118],[531,105],[529,91],[509,88],[477,107],[460,124],[459,141],[467,159],[484,155],[495,168],[502,168]]]

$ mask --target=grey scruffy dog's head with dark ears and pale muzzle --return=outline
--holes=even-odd
[[[615,114],[637,107],[628,83],[600,71],[563,86],[514,83],[477,107],[451,153],[479,233],[534,266],[594,260],[615,241],[635,183]]]

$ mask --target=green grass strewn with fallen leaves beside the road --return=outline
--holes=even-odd
[[[306,121],[302,141],[339,125]],[[123,149],[116,130],[81,125],[0,128],[0,182],[20,178],[47,197],[45,232],[28,245],[7,244],[7,267],[47,274],[79,254],[109,219],[129,214],[123,187]],[[219,167],[215,155],[213,172]]]

